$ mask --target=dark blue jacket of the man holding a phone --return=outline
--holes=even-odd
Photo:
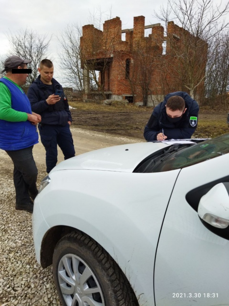
[[[59,102],[49,105],[46,99],[55,93],[56,89],[63,90],[62,86],[52,78],[52,85],[46,85],[40,80],[41,76],[30,85],[27,97],[30,101],[32,111],[41,115],[41,123],[50,125],[66,125],[72,121],[67,99],[64,91]]]

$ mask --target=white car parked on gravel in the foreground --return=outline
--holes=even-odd
[[[36,258],[65,306],[228,306],[228,193],[229,134],[78,155],[40,185]]]

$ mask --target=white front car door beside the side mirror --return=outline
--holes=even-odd
[[[207,229],[197,213],[201,196],[229,181],[228,165],[225,154],[180,171],[156,251],[156,306],[229,305],[229,241]]]

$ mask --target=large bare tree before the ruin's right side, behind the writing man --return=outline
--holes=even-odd
[[[228,25],[222,9],[213,0],[168,0],[156,17],[167,25],[168,73],[178,78],[192,97],[204,84],[207,47]],[[171,17],[170,17],[171,16]],[[169,22],[174,20],[176,24]]]

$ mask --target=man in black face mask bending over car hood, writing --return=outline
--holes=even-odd
[[[197,127],[199,106],[187,92],[177,91],[165,96],[144,129],[147,141],[190,139]]]

